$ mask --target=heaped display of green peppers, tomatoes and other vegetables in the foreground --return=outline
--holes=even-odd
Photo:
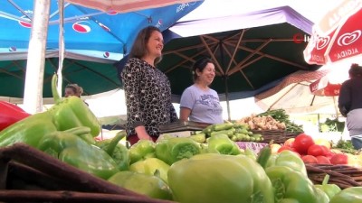
[[[250,124],[268,129],[287,124],[282,111],[260,115],[250,124],[209,125],[190,137],[164,136],[156,143],[140,140],[129,146],[119,143],[125,131],[111,139],[95,140],[100,125],[81,98],[61,99],[55,94],[54,99],[57,104],[48,111],[28,115],[2,130],[0,147],[24,143],[112,186],[168,202],[362,201],[362,185],[357,181],[339,187],[334,181],[336,172],[331,172],[317,183],[309,171],[309,166],[318,164],[358,167],[358,154],[341,152],[331,143],[304,133],[282,144],[266,144],[259,153],[240,149],[235,141],[263,140],[262,134],[252,133]],[[284,122],[275,122],[273,116]]]

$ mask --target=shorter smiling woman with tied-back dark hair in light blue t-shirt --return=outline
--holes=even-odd
[[[215,77],[214,63],[208,58],[196,60],[194,84],[184,90],[180,100],[180,120],[203,124],[222,124],[223,108],[217,92],[209,88]]]

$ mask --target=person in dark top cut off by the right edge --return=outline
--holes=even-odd
[[[338,97],[339,112],[347,116],[347,128],[355,149],[362,148],[362,67],[352,64],[349,79],[342,83]]]

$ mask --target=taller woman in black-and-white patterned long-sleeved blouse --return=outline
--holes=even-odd
[[[121,72],[127,106],[127,140],[156,141],[159,125],[178,120],[171,103],[171,85],[167,76],[156,68],[164,48],[163,36],[154,26],[138,32]]]

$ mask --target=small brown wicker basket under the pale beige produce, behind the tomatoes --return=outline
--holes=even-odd
[[[284,143],[289,138],[294,138],[298,134],[283,130],[252,130],[252,134],[262,134],[262,143]]]

